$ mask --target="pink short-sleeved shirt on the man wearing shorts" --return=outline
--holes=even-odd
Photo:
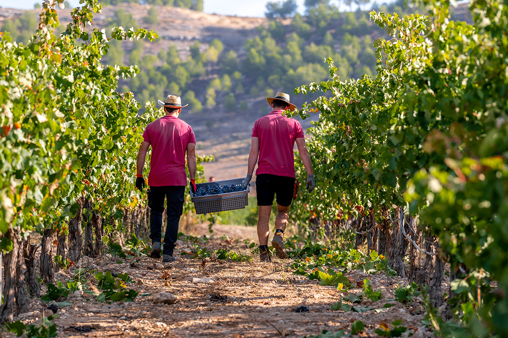
[[[252,137],[259,138],[259,174],[295,177],[295,140],[304,137],[300,122],[282,116],[282,110],[273,110],[252,127]]]

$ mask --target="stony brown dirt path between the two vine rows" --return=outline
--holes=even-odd
[[[247,230],[241,239],[240,230]],[[416,306],[406,306],[396,301],[384,309],[393,290],[403,280],[383,274],[366,275],[353,270],[347,274],[350,280],[361,285],[364,278],[371,280],[374,290],[382,289],[383,298],[375,303],[363,300],[360,306],[380,309],[363,314],[331,310],[340,295],[332,286],[320,286],[304,276],[293,275],[288,266],[292,260],[274,259],[272,263],[260,263],[257,256],[251,262],[220,260],[212,257],[193,259],[184,252],[196,252],[206,248],[208,252],[227,248],[230,252],[251,255],[244,238],[255,236],[254,228],[217,226],[208,241],[179,241],[177,261],[162,264],[161,260],[148,257],[122,260],[116,263],[104,260],[86,260],[82,267],[114,273],[127,272],[133,283],[126,284],[139,296],[133,302],[98,302],[94,297],[69,297],[69,306],[58,310],[54,320],[59,337],[301,337],[317,334],[326,329],[350,332],[355,320],[365,323],[364,332],[354,336],[376,337],[374,329],[382,322],[391,323],[402,318],[403,325],[413,337],[431,337],[432,332],[423,327],[423,314]],[[206,233],[207,228],[196,227],[196,233]],[[244,233],[245,234],[245,233]],[[227,235],[229,237],[220,238]],[[188,239],[188,238],[187,238]],[[198,247],[199,245],[199,247]],[[185,256],[185,258],[184,258]],[[71,268],[72,270],[72,268]],[[72,273],[59,273],[60,280],[69,279]],[[211,284],[196,283],[196,278],[211,278]],[[88,276],[89,280],[93,280]],[[94,283],[97,285],[97,283]],[[88,288],[97,290],[91,283]],[[349,290],[349,293],[361,291]],[[155,304],[154,295],[169,292],[177,297],[171,305]],[[44,292],[43,292],[44,293]],[[141,296],[143,295],[143,296]],[[86,296],[86,295],[85,295]],[[300,306],[308,312],[297,313]],[[44,314],[51,312],[40,299],[30,304],[30,312],[20,319],[28,323],[40,322]],[[6,335],[0,331],[0,336]],[[7,334],[8,336],[14,336]]]

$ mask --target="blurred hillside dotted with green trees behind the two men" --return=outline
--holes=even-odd
[[[394,3],[378,9],[404,10]],[[151,11],[151,12],[150,12]],[[65,30],[70,9],[58,10]],[[467,9],[455,10],[467,19]],[[37,10],[0,8],[2,30],[27,41],[37,26]],[[328,78],[325,58],[332,57],[341,78],[375,74],[373,41],[386,33],[368,20],[365,12],[341,13],[320,6],[307,16],[268,20],[205,14],[184,8],[120,4],[104,6],[94,25],[145,27],[160,39],[113,43],[106,64],[138,65],[139,75],[121,83],[144,106],[145,101],[164,100],[169,93],[182,96],[189,107],[180,116],[193,126],[199,155],[214,155],[205,164],[207,176],[216,179],[245,174],[253,122],[269,112],[265,97],[277,91],[293,93],[297,86]],[[17,31],[17,32],[16,32]],[[301,105],[312,96],[294,96]],[[306,129],[311,119],[302,121]]]

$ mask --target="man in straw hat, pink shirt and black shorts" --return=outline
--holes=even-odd
[[[272,111],[258,119],[252,127],[251,148],[248,159],[247,176],[243,180],[246,187],[252,179],[256,163],[256,195],[258,200],[258,238],[260,259],[271,262],[268,251],[268,236],[270,213],[273,198],[276,196],[277,217],[275,218],[275,235],[272,245],[278,258],[286,258],[284,250],[284,230],[288,225],[289,208],[293,200],[295,189],[295,159],[293,148],[295,142],[307,171],[307,190],[314,189],[314,174],[309,152],[305,146],[300,122],[293,118],[282,116],[285,110],[294,110],[296,106],[290,103],[289,95],[277,93],[274,98],[266,98]]]

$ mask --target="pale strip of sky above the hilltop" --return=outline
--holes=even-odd
[[[68,0],[71,6],[79,6],[79,0]],[[238,15],[251,17],[264,17],[266,3],[270,0],[204,0],[203,12],[224,15]],[[271,0],[277,2],[277,0]],[[280,0],[279,0],[280,1]],[[393,0],[391,0],[393,1]],[[17,9],[34,9],[35,3],[42,3],[42,0],[0,0],[0,7],[17,8]],[[304,0],[296,0],[299,12],[304,12]],[[332,0],[330,3],[337,3],[338,0]],[[390,2],[378,1],[378,2]]]

